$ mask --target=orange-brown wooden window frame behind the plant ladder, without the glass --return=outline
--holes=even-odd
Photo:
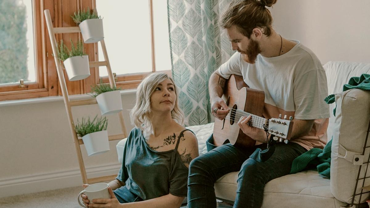
[[[148,74],[156,71],[155,66],[155,45],[154,45],[154,21],[153,21],[153,0],[148,0],[149,3],[149,18],[151,27],[151,54],[152,54],[152,70],[146,73],[135,74],[120,74],[117,75],[116,85],[124,89],[137,88],[142,79]],[[46,28],[44,10],[49,9],[54,27],[75,26],[75,23],[70,18],[70,6],[75,9],[84,9],[90,7],[95,8],[95,0],[32,0],[33,5],[33,22],[34,22],[34,51],[35,51],[35,67],[37,82],[25,83],[24,88],[18,84],[4,84],[0,86],[0,101],[3,100],[20,100],[26,98],[48,97],[61,95],[60,84],[55,67],[53,52],[48,37]],[[63,13],[65,11],[65,13]],[[98,10],[99,12],[99,10]],[[60,39],[73,41],[81,40],[81,34],[57,35],[57,41]],[[98,60],[98,44],[84,44],[85,52],[89,55],[90,61]],[[109,50],[108,50],[109,51]],[[64,70],[63,70],[64,71]],[[161,71],[171,77],[171,70]],[[65,74],[65,73],[64,73]],[[108,77],[99,76],[99,68],[90,68],[91,77],[80,81],[68,81],[66,78],[68,94],[85,94],[90,92],[91,85],[99,83],[100,78],[104,83],[109,83]],[[65,74],[65,77],[66,74]]]

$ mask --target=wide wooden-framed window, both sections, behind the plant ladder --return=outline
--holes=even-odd
[[[43,11],[50,10],[53,27],[75,27],[70,15],[87,7],[96,7],[103,18],[105,45],[118,87],[136,88],[154,71],[171,75],[164,0],[2,0],[0,101],[61,95]],[[56,38],[75,42],[81,35],[57,34]],[[84,44],[84,48],[90,61],[104,60],[100,43]],[[85,80],[66,79],[70,95],[90,92],[91,85],[100,78],[108,82],[105,68],[90,68],[90,72]]]

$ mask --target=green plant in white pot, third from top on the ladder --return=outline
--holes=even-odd
[[[118,113],[122,110],[121,88],[111,87],[102,80],[91,88],[91,96],[96,98],[101,115]]]

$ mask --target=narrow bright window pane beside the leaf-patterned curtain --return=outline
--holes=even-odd
[[[171,70],[169,50],[167,1],[153,0],[155,69]]]

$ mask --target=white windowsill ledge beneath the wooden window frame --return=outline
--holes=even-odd
[[[121,90],[121,96],[127,94],[135,94],[136,89],[127,89]],[[83,100],[92,98],[90,95],[87,94],[80,94],[80,95],[70,95],[70,100]],[[4,100],[0,101],[0,107],[3,106],[14,106],[14,105],[23,105],[23,104],[33,104],[33,103],[47,103],[47,102],[54,102],[54,101],[63,101],[63,96],[49,96],[49,97],[39,97],[39,98],[28,98],[28,99],[21,99],[21,100]]]

